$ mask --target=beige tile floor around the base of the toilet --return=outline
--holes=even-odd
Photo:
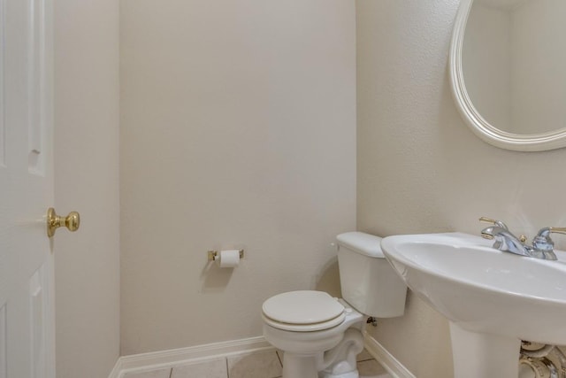
[[[219,357],[143,373],[126,373],[123,378],[279,378],[282,355],[279,351],[258,351],[238,356]],[[367,351],[358,355],[361,376],[391,378]]]

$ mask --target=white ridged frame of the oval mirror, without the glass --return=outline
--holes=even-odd
[[[450,45],[450,81],[463,120],[471,131],[486,143],[505,150],[540,151],[555,150],[566,147],[566,128],[542,134],[520,135],[502,131],[487,122],[471,103],[470,96],[463,81],[462,46],[463,35],[470,15],[473,0],[462,0],[456,14],[454,33]]]

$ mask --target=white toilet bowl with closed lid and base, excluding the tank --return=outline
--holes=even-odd
[[[296,306],[287,305],[293,301]],[[283,377],[358,377],[363,314],[343,299],[322,291],[291,291],[265,301],[262,319],[265,339],[284,351]]]

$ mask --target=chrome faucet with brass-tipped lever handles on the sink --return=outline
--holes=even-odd
[[[493,223],[493,226],[484,228],[481,231],[482,237],[495,239],[493,248],[530,258],[556,260],[555,243],[550,238],[550,234],[566,234],[566,228],[540,228],[539,233],[532,239],[532,245],[527,245],[525,244],[526,237],[524,235],[516,237],[501,220],[481,217],[479,221]]]

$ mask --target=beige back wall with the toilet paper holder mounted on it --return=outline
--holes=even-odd
[[[260,336],[267,297],[338,294],[355,21],[343,0],[121,2],[123,354]],[[207,264],[232,248],[241,266]]]

